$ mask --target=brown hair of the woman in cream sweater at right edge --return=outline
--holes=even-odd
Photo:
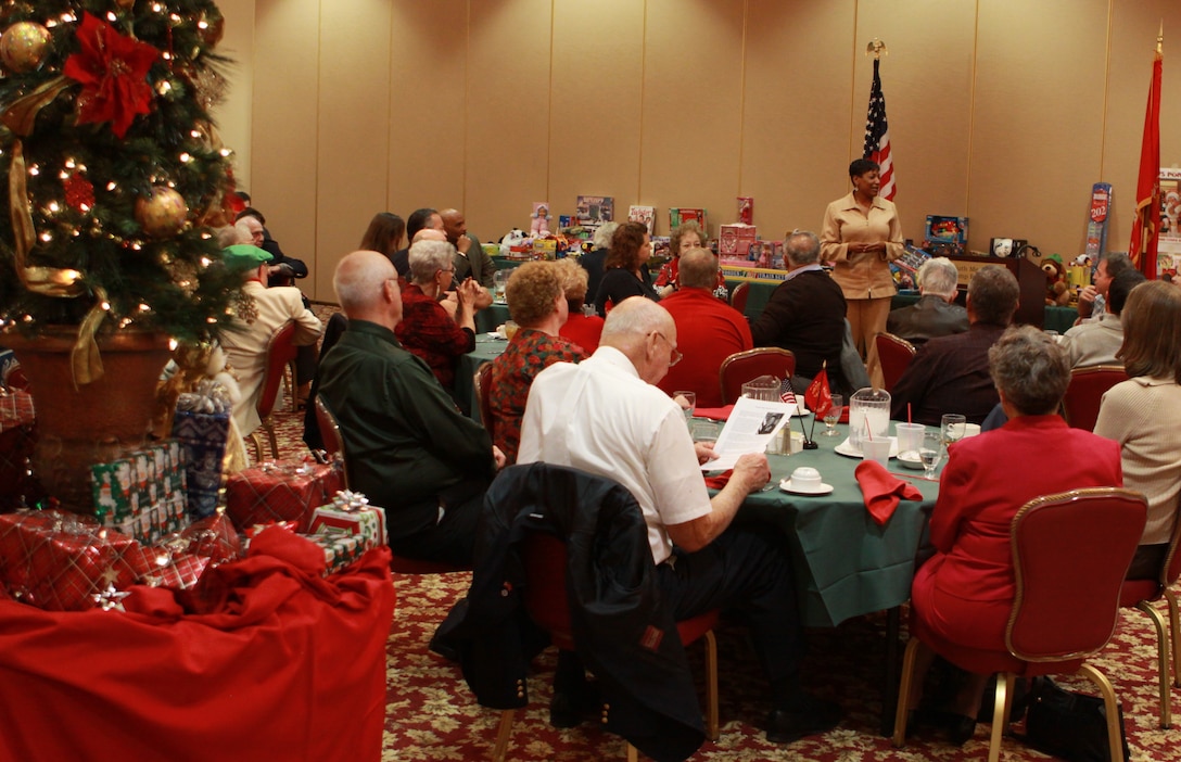
[[[1120,313],[1123,346],[1116,357],[1128,376],[1181,384],[1181,288],[1149,280],[1131,289]]]

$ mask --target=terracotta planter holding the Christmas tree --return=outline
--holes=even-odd
[[[33,395],[34,473],[63,508],[91,513],[90,467],[144,444],[156,383],[171,352],[163,333],[119,331],[98,341],[103,378],[74,389],[70,351],[76,337],[63,327],[34,339],[0,334],[0,344],[17,354]]]

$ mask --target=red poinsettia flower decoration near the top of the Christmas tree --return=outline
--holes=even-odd
[[[122,138],[136,115],[151,111],[148,70],[159,51],[119,34],[90,13],[83,15],[77,37],[81,50],[66,59],[61,71],[81,83],[78,123],[110,122],[111,131]]]

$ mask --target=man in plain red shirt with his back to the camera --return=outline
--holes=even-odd
[[[677,324],[685,359],[668,369],[658,384],[670,395],[697,393],[702,408],[722,405],[718,369],[735,352],[755,346],[746,318],[713,295],[718,282],[718,260],[709,249],[694,248],[680,256],[680,289],[660,300]]]

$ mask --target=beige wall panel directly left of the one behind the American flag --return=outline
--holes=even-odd
[[[854,0],[750,2],[739,195],[755,197],[764,239],[818,232],[824,207],[848,184],[855,8]]]

